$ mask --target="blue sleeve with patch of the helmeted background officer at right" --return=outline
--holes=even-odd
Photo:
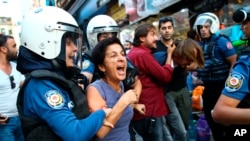
[[[218,43],[218,47],[219,47],[220,51],[215,51],[215,53],[216,52],[218,53],[218,55],[216,55],[216,57],[220,56],[219,53],[222,53],[224,58],[227,58],[227,57],[230,57],[230,56],[236,54],[236,50],[235,50],[234,46],[232,45],[232,43],[228,39],[226,39],[224,37],[220,37],[218,39],[217,43]]]

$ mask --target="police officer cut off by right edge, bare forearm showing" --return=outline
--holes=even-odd
[[[226,123],[229,124],[227,126],[227,133],[226,133],[226,140],[240,140],[240,141],[249,141],[250,138],[250,124],[248,123],[242,123],[242,124],[237,124],[237,121],[239,119],[243,119],[246,113],[244,113],[245,110],[244,108],[249,109],[250,107],[250,95],[249,95],[249,68],[250,68],[250,44],[249,44],[249,14],[250,14],[250,7],[246,6],[243,8],[237,9],[233,13],[233,20],[236,23],[241,23],[241,29],[243,33],[245,33],[245,40],[246,46],[242,48],[242,52],[240,53],[240,57],[238,58],[238,61],[234,64],[227,80],[225,81],[225,87],[222,90],[222,95],[224,97],[221,97],[215,108],[214,108],[214,113],[213,113],[213,118],[217,120],[218,122],[221,123]],[[229,97],[229,98],[228,98]],[[239,103],[237,105],[230,105],[227,104],[230,102],[230,99],[235,99]],[[229,100],[229,101],[228,101]],[[225,102],[227,101],[227,102]],[[232,100],[231,100],[232,101]],[[236,107],[235,107],[236,106]],[[242,112],[235,112],[234,115],[230,118],[229,120],[226,120],[227,117],[224,117],[221,115],[221,113],[227,112],[225,111],[224,108],[226,109],[232,109],[228,110],[230,112],[230,115],[232,115],[231,112],[234,110],[236,111],[242,111]],[[234,110],[233,110],[234,109]],[[242,114],[240,114],[242,113]],[[227,114],[228,115],[228,114]],[[235,119],[235,122],[233,121]],[[238,120],[237,120],[238,119]],[[242,133],[242,130],[245,132]]]

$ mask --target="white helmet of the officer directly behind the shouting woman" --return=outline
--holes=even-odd
[[[87,26],[87,38],[90,48],[98,43],[97,35],[104,32],[112,32],[118,35],[120,28],[115,20],[107,15],[97,15],[93,17]]]

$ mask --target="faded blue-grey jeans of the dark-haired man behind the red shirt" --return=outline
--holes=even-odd
[[[175,141],[186,141],[187,131],[175,102],[168,93],[165,95],[165,99],[170,110],[170,113],[166,116],[166,123],[172,133],[172,136]]]

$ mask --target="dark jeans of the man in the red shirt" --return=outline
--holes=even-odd
[[[165,117],[155,119],[155,128],[152,133],[148,133],[148,119],[132,121],[132,126],[136,132],[143,138],[143,141],[173,141],[171,133],[166,126]]]

